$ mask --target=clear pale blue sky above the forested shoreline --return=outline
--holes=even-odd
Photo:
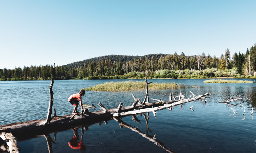
[[[0,0],[0,68],[154,53],[220,57],[256,43],[255,0]]]

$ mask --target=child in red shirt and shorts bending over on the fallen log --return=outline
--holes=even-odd
[[[78,102],[80,102],[81,110],[83,110],[82,96],[84,96],[85,90],[80,90],[79,93],[75,93],[68,98],[68,101],[75,106],[72,114],[77,115]]]

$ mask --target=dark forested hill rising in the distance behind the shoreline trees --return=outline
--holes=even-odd
[[[145,57],[147,57],[147,59],[151,59],[153,56],[156,59],[159,59],[160,57],[165,57],[167,54],[148,54],[148,55],[144,55],[144,56],[127,56],[127,55],[106,55],[106,56],[100,56],[100,57],[94,57],[94,58],[90,58],[90,59],[86,59],[83,61],[78,61],[78,62],[74,62],[71,64],[66,64],[63,66],[67,66],[68,70],[70,70],[71,68],[80,68],[81,66],[84,66],[84,63],[86,65],[89,65],[89,61],[94,61],[95,63],[100,62],[102,59],[103,61],[107,60],[110,61],[112,60],[113,62],[129,62],[129,61],[134,61],[134,59],[145,59]]]

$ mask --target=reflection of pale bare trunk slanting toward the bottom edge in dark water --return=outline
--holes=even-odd
[[[155,134],[154,137],[151,136],[151,135],[147,135],[147,134],[143,133],[142,131],[140,131],[138,128],[133,128],[131,125],[129,125],[129,124],[123,122],[122,120],[118,120],[118,119],[116,119],[116,118],[114,118],[114,119],[115,119],[120,125],[122,125],[122,126],[124,126],[124,127],[126,127],[126,128],[129,128],[129,129],[131,129],[132,131],[135,131],[135,132],[139,133],[141,136],[143,136],[144,138],[148,139],[149,141],[154,142],[154,144],[156,144],[156,145],[158,145],[159,147],[163,148],[163,149],[166,150],[167,152],[172,152],[172,153],[173,153],[173,151],[172,151],[171,149],[167,148],[167,147],[164,145],[163,142],[161,142],[161,141],[159,141],[159,140],[156,139],[156,134]]]

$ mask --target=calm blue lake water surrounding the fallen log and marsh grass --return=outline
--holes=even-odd
[[[205,79],[150,79],[153,83],[176,82],[182,83],[187,88],[178,90],[149,90],[149,98],[169,101],[169,94],[176,96],[182,90],[187,98],[192,91],[195,95],[212,92],[207,103],[202,101],[189,102],[175,106],[172,111],[168,109],[136,116],[135,122],[132,116],[122,118],[123,126],[115,120],[109,120],[90,126],[73,127],[67,131],[50,133],[55,142],[51,142],[50,152],[252,152],[256,150],[256,83],[244,84],[206,84]],[[254,79],[244,79],[252,80]],[[68,97],[83,87],[93,86],[108,81],[128,80],[56,80],[53,85],[53,107],[57,115],[67,115],[73,111],[73,106],[68,102]],[[136,81],[144,81],[136,79]],[[0,122],[4,124],[37,120],[46,118],[49,104],[49,85],[51,81],[1,81],[0,82]],[[218,103],[224,97],[244,95],[250,100],[242,105],[230,106]],[[95,92],[86,91],[82,97],[84,104],[94,104],[101,110],[98,103],[101,102],[107,109],[133,103],[131,93],[136,98],[144,99],[145,91],[132,92]],[[109,99],[109,102],[108,102]],[[151,100],[151,102],[154,102]],[[251,107],[252,105],[252,107]],[[191,110],[190,107],[194,106]],[[237,114],[228,107],[234,108]],[[244,113],[244,115],[243,115]],[[148,121],[146,119],[148,118]],[[139,120],[139,122],[138,122]],[[138,127],[135,132],[132,129]],[[148,127],[148,128],[147,128]],[[1,128],[1,126],[0,126]],[[84,132],[82,137],[82,132]],[[157,134],[156,134],[157,133]],[[153,138],[154,135],[155,139]],[[54,140],[54,135],[55,140]],[[47,134],[45,134],[47,136]],[[29,140],[20,140],[21,152],[49,152],[44,135]],[[82,142],[81,141],[82,137]],[[152,142],[153,140],[155,142]],[[80,143],[79,143],[80,142]],[[76,147],[78,146],[78,147]],[[80,147],[79,147],[80,146]],[[78,149],[80,148],[80,149]]]

